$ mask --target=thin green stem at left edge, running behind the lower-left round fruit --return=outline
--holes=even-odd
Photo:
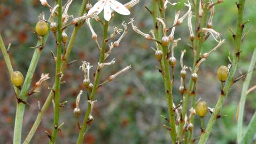
[[[1,49],[2,53],[3,53],[3,56],[4,56],[4,60],[5,60],[7,69],[8,69],[8,71],[9,71],[10,76],[11,76],[12,73],[13,73],[12,63],[11,63],[9,54],[8,54],[8,52],[6,51],[6,48],[5,48],[5,46],[4,46],[4,42],[3,42],[3,39],[2,39],[1,34],[0,34],[0,49]],[[14,85],[13,85],[13,88],[14,88],[14,92],[18,95],[19,89],[18,89],[16,86],[14,86]]]

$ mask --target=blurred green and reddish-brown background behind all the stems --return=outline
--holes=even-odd
[[[215,1],[215,0],[214,0]],[[53,5],[53,1],[48,1]],[[66,2],[66,1],[64,1]],[[126,3],[128,1],[120,1]],[[171,1],[175,2],[175,1]],[[176,1],[177,2],[177,1]],[[166,12],[167,26],[172,26],[175,11],[181,10],[181,15],[187,11],[184,2],[175,6],[168,5]],[[77,17],[82,0],[73,1],[68,10],[68,14]],[[92,3],[96,3],[92,0]],[[111,22],[110,31],[113,31],[113,26],[122,28],[122,21],[129,22],[130,18],[135,18],[135,25],[139,29],[148,33],[153,29],[152,17],[144,5],[151,7],[151,1],[141,0],[133,9],[131,15],[123,16],[115,14]],[[244,10],[244,21],[249,19],[246,24],[245,32],[249,29],[244,43],[242,45],[242,53],[239,61],[237,76],[239,73],[247,71],[256,44],[255,24],[256,24],[256,2],[246,1]],[[1,0],[0,2],[0,32],[4,39],[5,45],[11,43],[10,57],[14,70],[19,70],[26,75],[30,59],[33,55],[33,47],[36,44],[36,36],[26,27],[26,23],[34,27],[38,18],[37,15],[44,12],[46,18],[49,17],[49,10],[43,7],[38,0]],[[223,4],[215,6],[215,14],[213,18],[213,28],[222,34],[222,38],[226,42],[220,49],[215,51],[208,57],[207,61],[201,65],[199,70],[199,81],[197,86],[197,99],[201,98],[206,101],[210,107],[214,107],[219,97],[220,83],[216,77],[216,71],[221,65],[228,65],[228,55],[234,49],[234,40],[229,28],[236,30],[237,8],[235,1],[224,1]],[[100,14],[100,18],[103,15]],[[195,18],[192,18],[194,21]],[[102,26],[99,22],[91,21],[98,39],[102,41]],[[73,27],[67,29],[67,34],[70,36]],[[180,62],[179,58],[181,51],[187,50],[184,56],[184,64],[191,67],[192,53],[187,45],[189,41],[189,30],[187,19],[184,20],[181,26],[176,27],[175,38],[181,38],[182,41],[175,48],[175,57],[178,60],[178,65],[175,68],[174,81],[174,101],[175,103],[181,100],[179,94],[180,86]],[[211,50],[216,45],[213,38],[209,38],[203,45],[202,52]],[[115,78],[114,81],[107,83],[97,91],[94,111],[92,115],[95,118],[90,130],[87,132],[84,143],[170,143],[168,131],[162,126],[166,121],[160,115],[167,116],[167,103],[162,83],[162,77],[156,66],[158,62],[154,59],[154,51],[150,49],[154,47],[153,42],[145,40],[137,35],[131,26],[128,26],[128,34],[120,43],[118,48],[115,48],[109,60],[115,58],[115,65],[104,68],[101,81],[103,82],[111,74],[119,69],[131,65],[132,69],[128,73],[122,74]],[[49,73],[51,79],[44,82],[41,86],[41,93],[34,94],[28,99],[30,107],[26,108],[25,118],[22,131],[22,140],[25,139],[30,127],[33,125],[37,116],[38,108],[37,101],[40,101],[41,106],[45,101],[48,93],[48,87],[54,83],[55,63],[51,57],[51,51],[56,51],[56,44],[53,34],[51,33],[46,46],[43,50],[42,57],[38,63],[36,73],[33,77],[33,83],[36,82],[42,73]],[[76,95],[80,90],[84,90],[82,86],[83,73],[79,69],[82,61],[86,60],[94,65],[92,71],[95,71],[99,52],[95,42],[91,39],[89,28],[83,25],[76,37],[75,44],[69,61],[77,60],[65,72],[65,84],[61,86],[61,101],[68,100],[67,105],[71,108],[61,108],[60,123],[64,122],[61,132],[58,134],[57,143],[75,143],[79,130],[77,129],[77,120],[73,115]],[[3,60],[3,55],[0,54],[0,143],[12,143],[14,116],[15,116],[15,97],[12,86],[9,80],[9,74]],[[91,76],[92,76],[91,72]],[[190,71],[188,71],[188,76]],[[253,74],[251,86],[256,84],[255,73]],[[188,82],[188,81],[187,81]],[[250,86],[250,87],[251,87]],[[208,143],[235,143],[236,142],[236,108],[240,98],[242,89],[242,81],[237,82],[229,93],[229,97],[221,110],[221,114],[227,115],[218,119],[214,126],[213,133]],[[254,110],[256,109],[255,91],[247,95],[244,120],[247,125],[249,123]],[[81,121],[87,107],[87,95],[84,93],[81,98],[80,108],[82,110]],[[204,118],[207,123],[210,114]],[[38,127],[36,134],[31,143],[48,143],[48,138],[45,130],[51,131],[53,122],[53,108],[49,107],[44,118]],[[199,118],[196,116],[195,137],[199,136]],[[197,141],[196,141],[197,142]]]

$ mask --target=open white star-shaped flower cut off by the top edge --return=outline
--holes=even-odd
[[[104,19],[111,19],[111,9],[122,15],[129,15],[130,11],[121,3],[115,0],[98,0],[98,2],[89,10],[88,14],[97,12],[99,14],[104,9]]]

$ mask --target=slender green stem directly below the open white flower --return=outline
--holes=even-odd
[[[103,32],[103,42],[102,42],[103,44],[102,44],[102,49],[100,50],[99,63],[103,63],[104,58],[105,58],[105,50],[106,50],[106,43],[107,43],[107,41],[106,41],[106,39],[107,39],[107,30],[108,30],[108,21],[105,21],[104,32]],[[97,73],[96,73],[96,78],[95,78],[95,81],[94,81],[94,87],[92,88],[92,91],[91,91],[91,94],[90,94],[90,100],[91,101],[93,101],[94,97],[95,97],[95,93],[96,93],[98,83],[99,83],[100,72],[101,72],[101,69],[98,68]],[[79,132],[77,142],[76,142],[77,144],[82,143],[83,135],[84,135],[84,132],[86,131],[86,127],[87,127],[87,120],[88,120],[88,117],[91,113],[91,108],[92,108],[91,103],[88,102],[86,115],[84,116],[83,124],[82,124],[81,130]]]

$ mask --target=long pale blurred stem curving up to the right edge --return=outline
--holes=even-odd
[[[237,123],[237,141],[241,140],[242,134],[243,134],[243,116],[244,116],[246,92],[248,90],[249,84],[252,79],[252,73],[253,73],[253,68],[255,66],[255,63],[256,63],[256,49],[254,49],[253,54],[252,54],[252,59],[251,59],[250,66],[247,71],[245,81],[243,83],[241,99],[239,102],[239,108],[238,108],[239,113],[238,113],[238,123]]]

